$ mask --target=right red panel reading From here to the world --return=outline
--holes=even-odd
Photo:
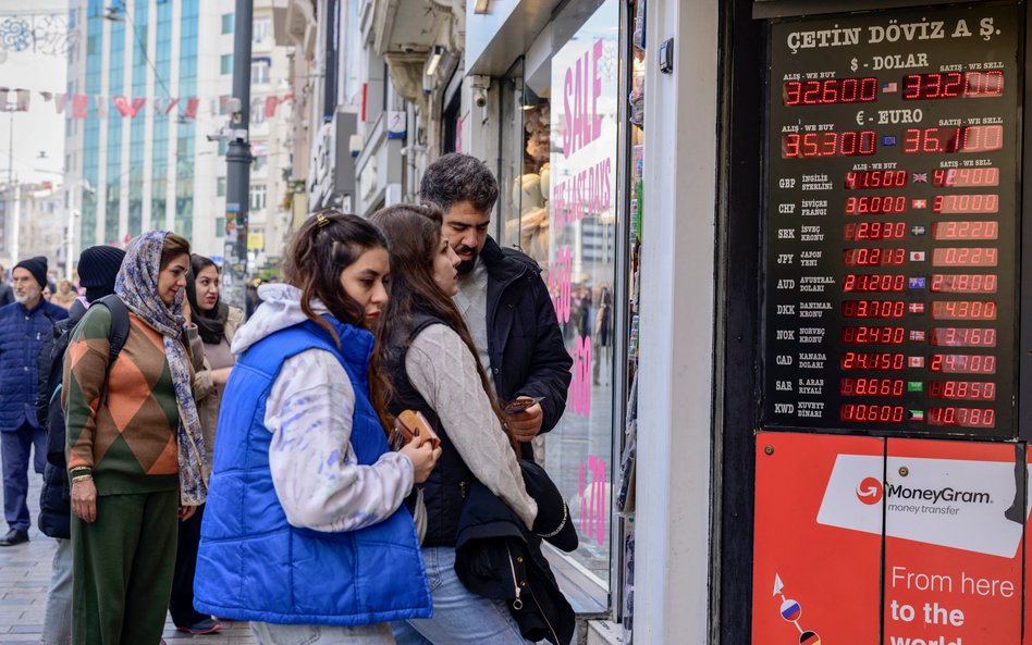
[[[888,439],[886,644],[1021,641],[1015,463],[1012,444]]]

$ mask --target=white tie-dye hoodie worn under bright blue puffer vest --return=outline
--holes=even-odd
[[[263,302],[233,338],[243,353],[262,338],[307,320],[300,290],[262,285]],[[325,307],[312,301],[316,313]],[[337,359],[309,349],[287,359],[266,401],[272,433],[269,469],[287,521],[317,531],[355,531],[389,518],[413,487],[413,462],[386,452],[358,466],[351,445],[355,392]]]

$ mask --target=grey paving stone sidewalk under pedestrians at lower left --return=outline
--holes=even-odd
[[[30,479],[28,508],[34,525],[29,542],[0,547],[0,645],[38,645],[42,632],[54,542],[35,526],[42,477],[33,473]],[[0,534],[7,531],[0,521]],[[217,634],[189,636],[176,632],[170,620],[164,638],[169,645],[255,645],[246,622],[223,622]]]

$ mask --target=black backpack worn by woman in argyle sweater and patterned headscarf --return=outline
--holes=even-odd
[[[128,309],[118,296],[105,296],[90,303],[90,307],[103,306],[111,311],[111,332],[108,342],[111,350],[108,355],[108,370],[119,358],[125,339],[128,338]],[[64,410],[61,408],[61,384],[64,376],[64,352],[75,325],[86,314],[86,308],[78,301],[72,305],[66,320],[53,326],[53,333],[39,350],[37,371],[39,386],[36,398],[36,418],[47,431],[47,466],[44,471],[44,485],[39,493],[39,530],[50,537],[71,537],[71,484],[67,476],[67,461],[64,456],[66,431]],[[107,381],[107,377],[105,379]]]

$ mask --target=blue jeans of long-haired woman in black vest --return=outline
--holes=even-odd
[[[526,645],[502,600],[478,596],[455,574],[455,549],[425,547],[433,618],[392,622],[397,645]]]

